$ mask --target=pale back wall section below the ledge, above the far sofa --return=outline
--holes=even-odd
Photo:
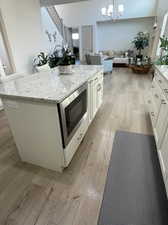
[[[154,18],[98,23],[98,50],[128,50],[139,31],[151,33],[153,23]]]

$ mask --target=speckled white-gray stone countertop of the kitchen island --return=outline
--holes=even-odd
[[[71,75],[59,75],[58,70],[25,75],[0,84],[0,97],[59,103],[99,71],[102,66],[77,65]]]

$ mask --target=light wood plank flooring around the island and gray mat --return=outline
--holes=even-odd
[[[117,68],[104,83],[103,105],[63,174],[22,163],[0,112],[0,225],[97,224],[115,131],[152,133],[150,76]]]

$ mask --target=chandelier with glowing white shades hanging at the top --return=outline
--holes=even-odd
[[[118,4],[117,0],[112,0],[108,6],[101,9],[101,14],[108,19],[119,19],[124,14],[124,4]]]

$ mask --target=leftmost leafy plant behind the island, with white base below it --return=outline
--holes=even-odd
[[[50,69],[48,65],[48,55],[44,52],[40,52],[33,60],[34,66],[38,72],[48,71]]]

